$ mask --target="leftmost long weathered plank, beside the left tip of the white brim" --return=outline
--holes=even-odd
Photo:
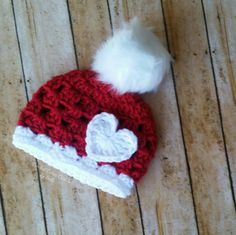
[[[11,1],[0,7],[0,182],[9,234],[45,234],[36,162],[12,145],[26,103]],[[2,233],[1,233],[2,234]]]

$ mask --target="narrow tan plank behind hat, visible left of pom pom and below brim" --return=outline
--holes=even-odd
[[[106,1],[69,0],[80,68],[88,68],[100,43],[111,35]],[[142,234],[137,195],[122,200],[99,191],[104,234]]]

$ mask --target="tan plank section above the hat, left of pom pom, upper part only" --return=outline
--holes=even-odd
[[[90,68],[98,46],[111,34],[106,1],[69,0],[80,69]]]

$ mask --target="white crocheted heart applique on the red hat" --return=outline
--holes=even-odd
[[[128,129],[117,130],[117,126],[113,114],[103,112],[94,116],[86,132],[87,157],[97,162],[121,162],[136,152],[136,135]]]

